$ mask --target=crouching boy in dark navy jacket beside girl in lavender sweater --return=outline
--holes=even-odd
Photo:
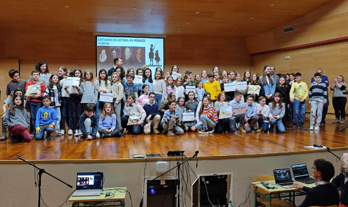
[[[85,112],[80,116],[79,121],[82,135],[86,140],[99,139],[97,116],[93,114],[93,105],[87,103]]]

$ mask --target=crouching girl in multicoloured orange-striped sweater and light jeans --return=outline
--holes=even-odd
[[[217,114],[214,105],[210,102],[209,97],[203,98],[203,106],[200,108],[200,122],[195,125],[196,129],[200,131],[200,134],[213,133],[217,123]],[[208,130],[208,126],[213,128],[211,131]]]

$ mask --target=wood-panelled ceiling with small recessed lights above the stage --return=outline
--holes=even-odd
[[[331,1],[1,0],[0,29],[250,37]]]

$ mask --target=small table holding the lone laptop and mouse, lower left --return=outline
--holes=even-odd
[[[125,206],[127,187],[104,187],[102,194],[98,196],[70,196],[69,202],[72,206]],[[114,193],[114,196],[105,198],[105,193]],[[112,195],[112,194],[111,194]],[[112,198],[110,198],[112,197]]]

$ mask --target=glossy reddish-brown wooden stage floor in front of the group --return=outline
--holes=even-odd
[[[348,149],[348,128],[339,131],[343,125],[331,122],[332,120],[327,119],[327,124],[322,125],[319,131],[310,131],[309,121],[306,121],[307,130],[288,128],[285,134],[236,132],[200,135],[196,132],[187,132],[175,137],[163,134],[126,135],[121,138],[91,141],[66,134],[61,137],[53,136],[51,140],[32,140],[30,143],[11,143],[7,139],[0,141],[0,162],[10,163],[18,160],[17,154],[26,160],[42,160],[43,162],[52,162],[52,160],[134,162],[137,159],[133,160],[133,154],[159,153],[167,157],[167,151],[172,150],[184,150],[186,156],[191,156],[199,150],[199,156],[205,156],[204,159],[229,159],[244,156],[309,153],[310,149],[304,146],[313,144]]]

